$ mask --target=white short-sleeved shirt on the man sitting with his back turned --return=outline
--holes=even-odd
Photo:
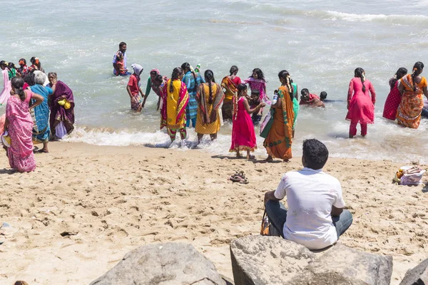
[[[308,249],[323,249],[337,242],[332,206],[345,207],[339,180],[322,170],[303,168],[287,172],[275,191],[277,199],[287,195],[284,237]]]

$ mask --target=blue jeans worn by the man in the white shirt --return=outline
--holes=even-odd
[[[285,221],[287,220],[287,209],[284,205],[278,201],[267,201],[266,205],[266,214],[270,222],[279,229],[281,237],[284,237],[282,229],[284,229]],[[337,239],[346,232],[346,230],[352,224],[352,214],[347,209],[344,209],[340,216],[332,217],[333,224],[336,227]]]

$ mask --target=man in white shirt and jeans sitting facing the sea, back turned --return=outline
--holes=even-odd
[[[282,177],[277,190],[265,193],[270,222],[282,237],[308,249],[324,249],[337,242],[352,224],[339,180],[322,172],[328,150],[319,140],[303,142],[303,169]],[[287,195],[288,209],[279,201]]]

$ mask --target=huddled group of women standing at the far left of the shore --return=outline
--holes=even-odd
[[[0,105],[6,104],[6,113],[0,117],[1,140],[11,168],[29,172],[36,168],[34,152],[49,152],[49,140],[58,140],[73,131],[73,91],[58,81],[54,72],[46,74],[39,58],[14,63],[0,61],[4,90]],[[34,150],[34,144],[43,147]]]

